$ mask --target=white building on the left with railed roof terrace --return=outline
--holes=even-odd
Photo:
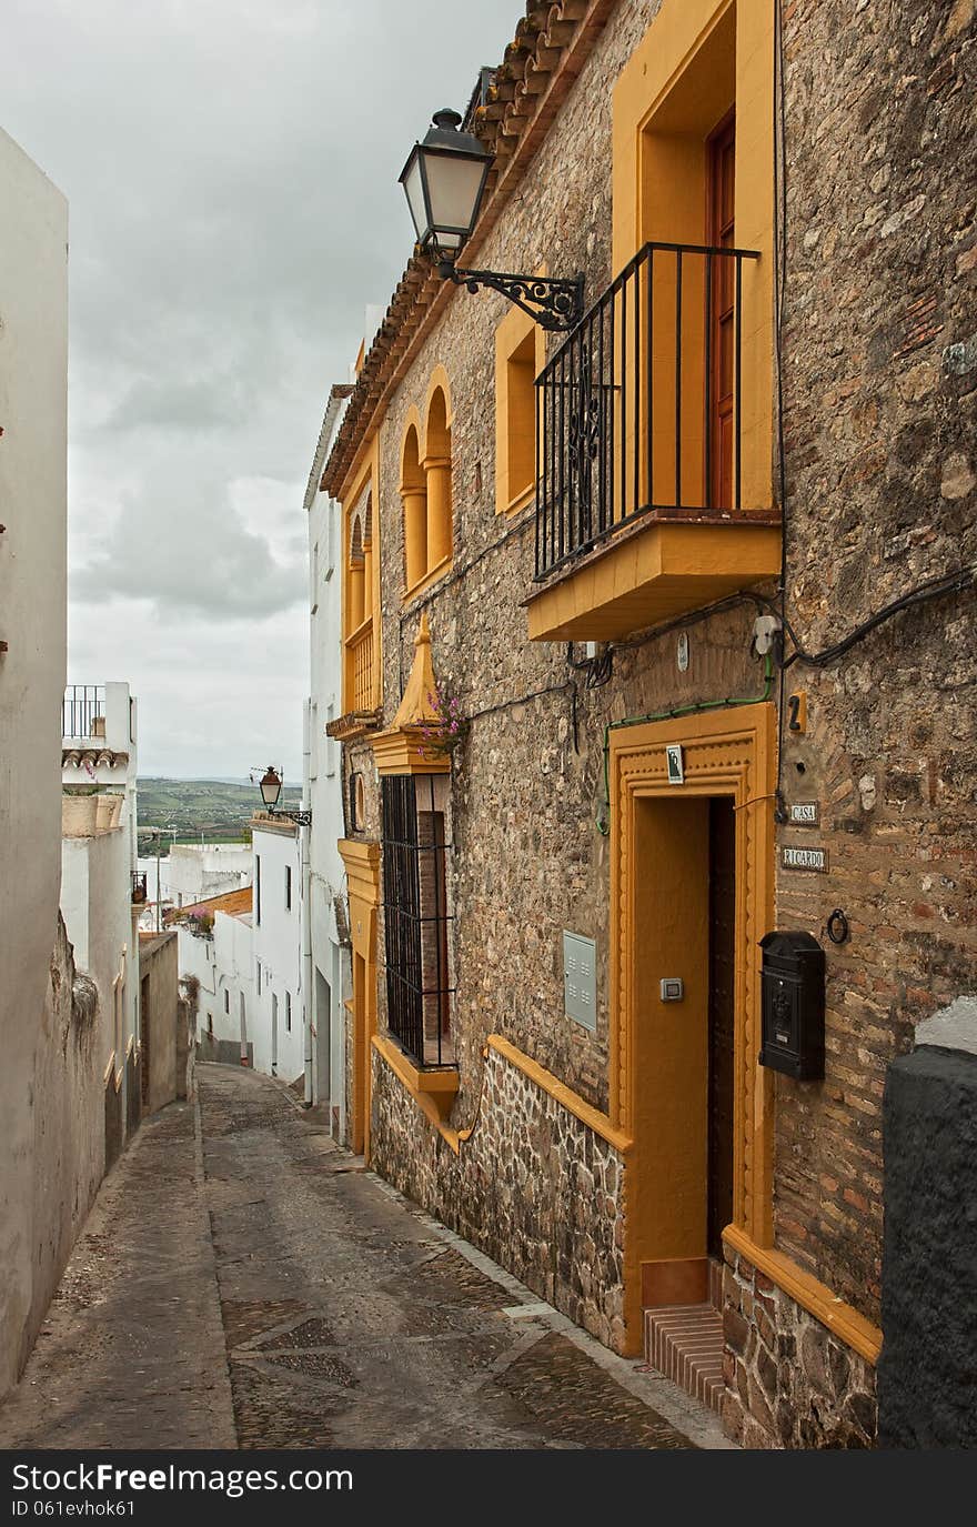
[[[61,721],[61,915],[99,996],[105,1165],[139,1122],[136,701],[128,684],[69,684]]]

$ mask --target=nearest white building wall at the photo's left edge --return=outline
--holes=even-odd
[[[67,203],[0,131],[0,1394],[17,1379],[95,1183],[99,1092],[63,1049]],[[52,980],[56,971],[56,983]],[[84,1098],[82,1098],[84,1093]],[[87,1101],[85,1101],[87,1099]]]

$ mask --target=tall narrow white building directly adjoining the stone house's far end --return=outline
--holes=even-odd
[[[333,1133],[345,1139],[345,1008],[350,951],[336,921],[345,869],[340,744],[327,736],[342,704],[340,505],[319,492],[322,469],[342,421],[350,386],[330,392],[305,490],[308,515],[310,698],[305,716],[304,803],[311,806],[307,918],[302,930],[311,993],[311,1101],[328,1106]]]

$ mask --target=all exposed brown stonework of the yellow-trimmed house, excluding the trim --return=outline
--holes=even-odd
[[[553,275],[582,269],[588,302],[608,284],[611,90],[655,11],[640,0],[612,11],[479,249],[479,266],[534,270],[547,261]],[[786,586],[791,625],[808,652],[921,580],[977,562],[977,246],[972,192],[960,174],[972,50],[969,0],[785,6]],[[423,609],[438,680],[459,695],[472,722],[452,760],[449,829],[461,1083],[455,1124],[475,1116],[492,1032],[608,1107],[609,846],[597,826],[605,728],[762,689],[750,605],[692,629],[687,672],[678,670],[673,632],[635,634],[640,644],[615,647],[601,687],[588,687],[562,644],[527,641],[533,510],[511,519],[495,513],[495,328],[507,312],[498,295],[452,298],[389,397],[374,484],[386,724]],[[423,417],[437,365],[452,394],[453,567],[405,606],[400,446],[409,411]],[[774,501],[777,444],[771,441]],[[808,695],[809,725],[803,736],[785,736],[783,796],[788,803],[817,800],[821,825],[783,829],[780,843],[824,846],[829,873],[780,873],[775,919],[824,944],[827,1020],[824,1081],[775,1080],[775,1243],[873,1322],[885,1067],[910,1048],[921,1019],[972,988],[977,968],[972,629],[972,592],[943,597],[873,631],[838,661],[797,661],[788,670],[788,687]],[[345,754],[347,771],[356,768],[365,782],[362,831],[376,838],[379,793],[368,747]],[[835,907],[850,927],[840,947],[824,936]],[[595,1034],[563,1017],[563,928],[597,941]],[[382,916],[377,956],[383,1031]],[[397,1087],[382,1067],[374,1157],[405,1191],[461,1226],[472,1193],[466,1147],[459,1165]],[[530,1136],[516,1133],[510,1144],[525,1148]],[[540,1168],[531,1154],[507,1157],[498,1180],[521,1170],[536,1183]],[[513,1226],[493,1180],[485,1177],[475,1194],[478,1222],[464,1232],[542,1287],[542,1251]],[[540,1223],[547,1202],[548,1194],[534,1200]],[[569,1309],[583,1293],[566,1284],[560,1298]],[[756,1364],[762,1338],[754,1312],[765,1307],[756,1290],[751,1298],[750,1313],[739,1313],[751,1325]],[[751,1412],[750,1428],[766,1428],[786,1445],[870,1441],[872,1387],[861,1359],[844,1359],[844,1383],[835,1380],[841,1356],[829,1359],[818,1387],[817,1362],[801,1348],[814,1351],[821,1328],[780,1296],[766,1313],[780,1322],[777,1341],[783,1336],[786,1345],[775,1388],[763,1391],[772,1420]]]

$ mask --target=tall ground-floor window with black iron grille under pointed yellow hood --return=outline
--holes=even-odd
[[[382,780],[389,1031],[421,1066],[455,1063],[444,811],[434,774]]]

